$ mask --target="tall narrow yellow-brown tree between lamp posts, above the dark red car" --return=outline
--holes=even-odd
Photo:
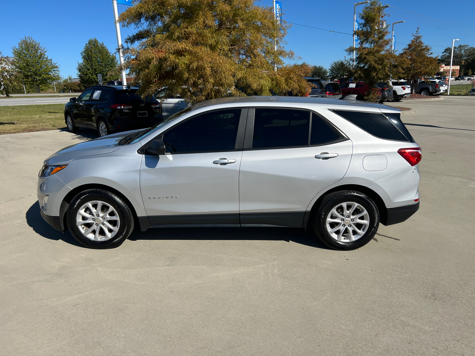
[[[374,88],[379,82],[388,81],[390,78],[391,63],[394,55],[390,50],[389,31],[381,26],[386,17],[384,8],[376,0],[366,5],[360,13],[362,23],[355,34],[360,37],[358,47],[349,47],[348,54],[356,51],[355,67],[348,69],[348,75],[355,81],[368,85],[369,90],[364,95],[364,100],[375,101],[377,90]]]

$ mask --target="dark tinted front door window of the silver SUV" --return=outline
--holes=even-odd
[[[234,150],[241,109],[207,112],[163,135],[167,152]]]

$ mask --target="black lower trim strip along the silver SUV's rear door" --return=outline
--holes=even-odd
[[[241,213],[241,226],[302,227],[304,211],[278,211],[270,213]]]

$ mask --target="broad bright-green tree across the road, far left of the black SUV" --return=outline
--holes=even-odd
[[[22,38],[12,47],[13,67],[25,85],[40,92],[40,86],[51,84],[59,77],[59,67],[46,55],[46,48],[31,37]]]

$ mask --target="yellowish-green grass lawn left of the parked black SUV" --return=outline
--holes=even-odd
[[[64,104],[0,106],[0,135],[63,127]]]

